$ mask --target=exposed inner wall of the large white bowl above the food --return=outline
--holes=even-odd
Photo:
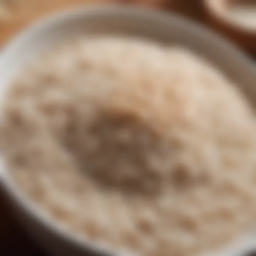
[[[256,106],[256,68],[230,43],[175,15],[121,7],[70,11],[39,22],[21,33],[4,49],[0,58],[0,99],[4,100],[6,87],[26,63],[53,44],[81,34],[125,34],[190,48],[222,70]],[[4,172],[4,168],[0,170]],[[9,190],[11,187],[12,194],[18,194],[10,185],[6,172],[4,176],[9,182],[5,187]],[[224,255],[233,256],[227,252]]]

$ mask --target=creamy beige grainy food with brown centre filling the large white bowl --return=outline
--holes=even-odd
[[[22,71],[2,113],[17,186],[89,241],[191,256],[255,223],[254,112],[187,49],[76,39]]]

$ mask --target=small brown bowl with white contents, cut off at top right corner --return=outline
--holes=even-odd
[[[256,56],[254,0],[203,0],[203,6],[206,22],[212,28]]]

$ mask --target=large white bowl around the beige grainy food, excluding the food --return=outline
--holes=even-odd
[[[23,66],[53,43],[79,34],[130,34],[181,44],[215,64],[239,86],[256,106],[256,68],[238,49],[212,32],[174,14],[115,6],[73,10],[47,18],[17,36],[0,58],[1,100],[11,79]],[[122,255],[68,233],[40,211],[15,187],[1,161],[1,186],[25,229],[55,255]],[[255,238],[255,237],[253,237]],[[241,255],[254,242],[246,239],[227,248],[223,255]],[[255,246],[256,247],[256,246]],[[255,248],[256,249],[256,248]],[[89,252],[89,254],[87,254]],[[108,252],[108,253],[107,253]],[[221,252],[217,252],[218,256]]]

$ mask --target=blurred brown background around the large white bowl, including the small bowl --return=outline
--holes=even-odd
[[[39,18],[60,10],[99,4],[178,13],[221,34],[256,60],[256,0],[0,0],[0,51],[16,33]],[[0,192],[0,255],[46,256],[16,224],[8,208]]]

